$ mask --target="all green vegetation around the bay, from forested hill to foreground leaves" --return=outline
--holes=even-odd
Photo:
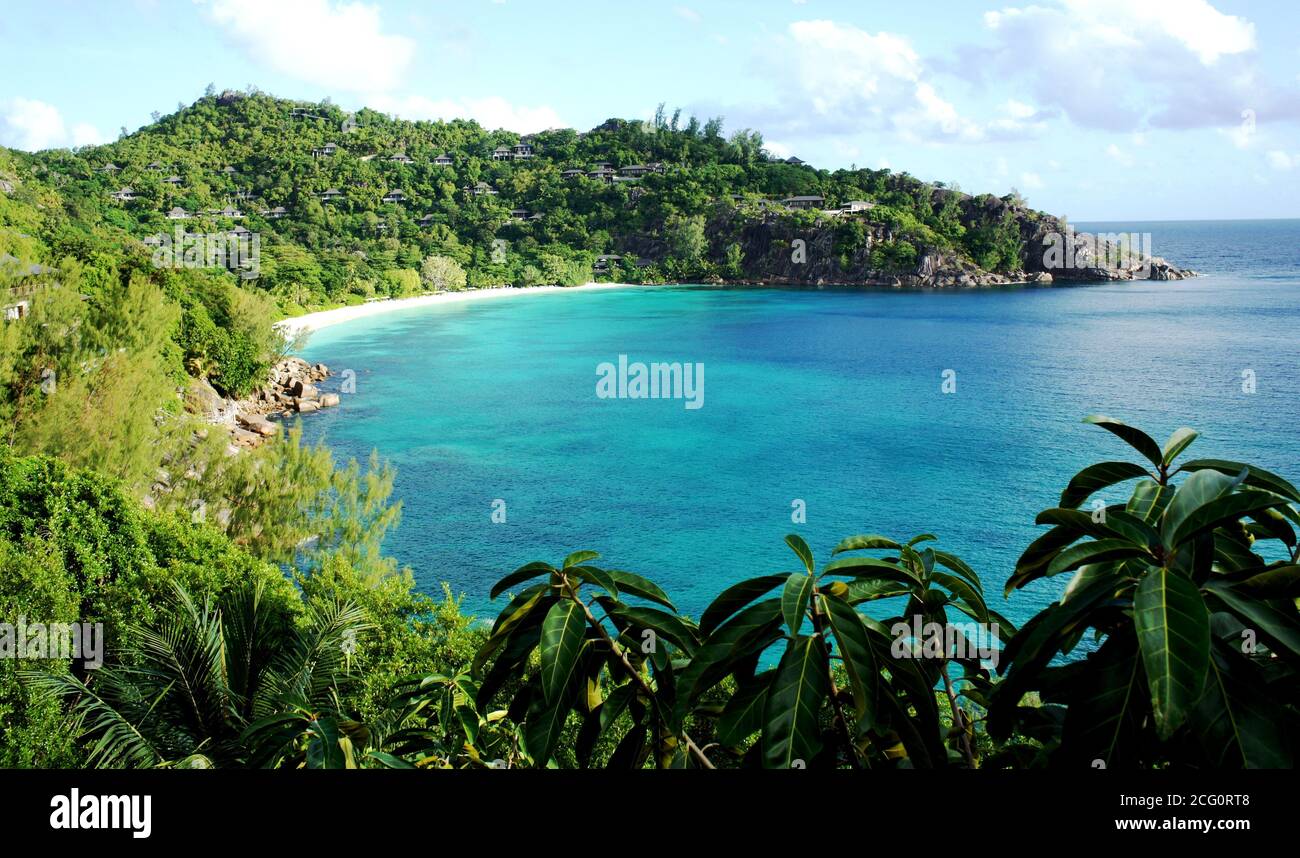
[[[480,623],[385,554],[400,503],[377,456],[295,430],[235,452],[195,404],[263,390],[291,350],[273,322],[304,308],[589,280],[978,285],[1027,277],[1061,225],[663,110],[523,140],[209,92],[108,146],[0,150],[0,621],[103,623],[105,644],[91,668],[0,633],[0,764],[1292,764],[1300,495],[1179,464],[1188,430],[1160,447],[1097,420],[1143,462],[1086,469],[1039,516],[1008,592],[1072,578],[1022,629],[930,534],[822,563],[792,534],[794,572],[737,569],[757,577],[698,618],[577,551],[506,576]],[[257,252],[176,264],[177,228]],[[1080,508],[1122,481],[1127,504]],[[958,615],[1000,645],[950,633]]]

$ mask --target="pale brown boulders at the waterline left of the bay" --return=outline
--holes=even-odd
[[[270,368],[266,384],[243,399],[222,396],[204,380],[191,384],[187,408],[208,421],[228,426],[235,448],[256,447],[280,433],[280,421],[292,413],[315,413],[339,404],[338,394],[321,393],[329,367],[302,358],[282,358]]]

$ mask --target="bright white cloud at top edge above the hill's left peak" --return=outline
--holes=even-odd
[[[386,32],[365,3],[211,0],[208,14],[254,61],[329,90],[394,90],[415,56],[415,40]]]

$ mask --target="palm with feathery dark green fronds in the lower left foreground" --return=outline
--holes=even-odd
[[[274,764],[296,733],[254,736],[250,725],[283,712],[308,725],[333,720],[356,634],[369,628],[351,603],[308,606],[295,623],[260,581],[220,606],[174,585],[160,615],[127,629],[114,663],[86,681],[25,673],[70,702],[91,766]]]

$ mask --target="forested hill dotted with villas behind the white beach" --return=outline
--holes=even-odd
[[[92,246],[148,256],[139,242],[177,226],[247,229],[256,289],[286,312],[421,290],[430,255],[455,263],[434,285],[459,285],[459,268],[471,287],[1005,282],[1040,272],[1035,242],[1062,226],[1014,196],[814,169],[772,157],[758,133],[662,112],[520,138],[225,92],[116,143],[5,160],[0,190],[42,213],[8,224],[39,239],[17,242],[40,256],[23,261]]]

